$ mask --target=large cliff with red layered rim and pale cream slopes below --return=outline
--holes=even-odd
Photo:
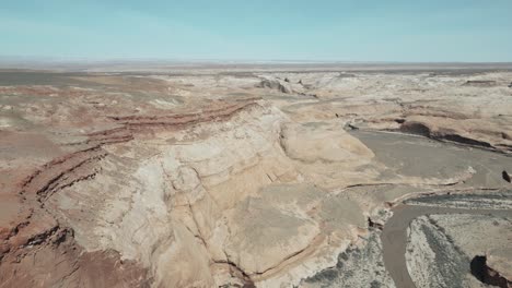
[[[314,178],[305,180],[293,157],[305,165],[342,163],[360,151],[372,157],[342,130],[333,134],[339,137],[334,147],[326,135],[298,133],[301,124],[258,99],[108,121],[113,128],[78,137],[19,183],[9,182],[27,213],[5,233],[5,279],[21,283],[20,269],[40,286],[68,278],[37,281],[46,262],[23,260],[42,244],[35,255],[50,253],[47,261],[62,263],[73,283],[107,284],[92,276],[97,265],[110,269],[105,277],[119,273],[119,286],[212,287],[271,278],[311,257],[331,232],[314,211],[327,192]],[[341,155],[330,151],[346,140],[350,147]],[[352,218],[336,229],[340,240],[333,249],[364,225]],[[91,252],[68,259],[82,250]],[[11,263],[16,253],[22,261]]]

